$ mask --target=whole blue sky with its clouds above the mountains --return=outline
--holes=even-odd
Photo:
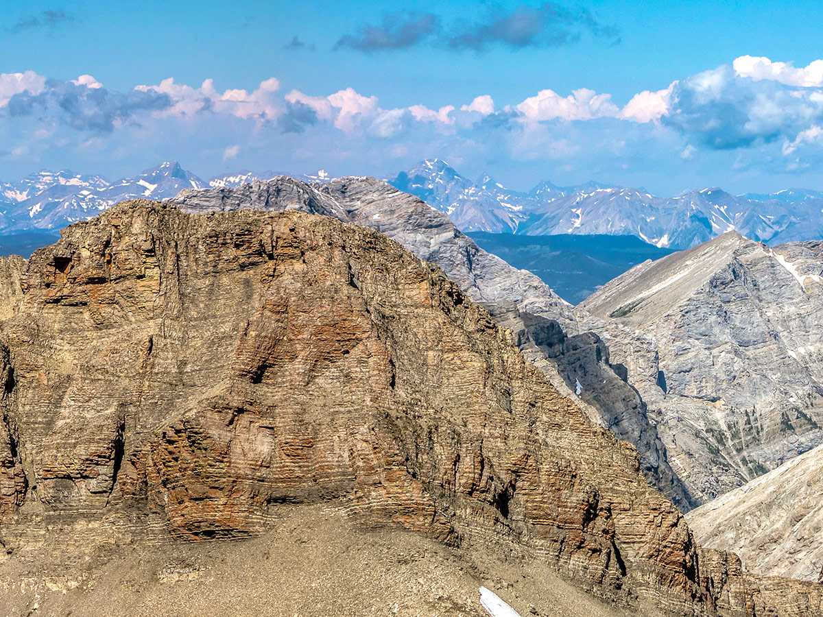
[[[0,179],[171,158],[205,177],[384,175],[439,156],[514,188],[821,189],[821,18],[819,2],[7,2]]]

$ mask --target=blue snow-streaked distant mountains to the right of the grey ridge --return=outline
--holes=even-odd
[[[467,179],[439,159],[388,182],[444,211],[467,232],[635,235],[666,248],[690,248],[732,230],[769,244],[823,237],[823,193],[804,189],[735,196],[702,188],[655,197],[596,182],[542,182],[518,192],[488,174]]]

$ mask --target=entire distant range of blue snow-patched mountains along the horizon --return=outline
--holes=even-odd
[[[166,199],[183,188],[231,188],[277,172],[241,171],[208,181],[166,161],[133,178],[42,171],[0,182],[0,234],[57,230],[124,199]],[[325,182],[331,174],[298,176]],[[658,248],[690,248],[727,231],[775,245],[823,238],[823,193],[785,189],[732,195],[720,188],[656,197],[643,189],[589,182],[561,187],[549,181],[529,191],[506,188],[488,174],[476,181],[443,160],[421,161],[386,179],[444,212],[463,232],[524,235],[634,235]]]

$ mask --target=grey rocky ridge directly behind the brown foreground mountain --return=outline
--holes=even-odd
[[[297,209],[370,227],[398,241],[416,257],[442,268],[470,298],[485,304],[495,318],[514,332],[530,360],[560,392],[579,401],[590,419],[635,444],[644,474],[652,485],[663,490],[680,508],[695,505],[669,466],[643,401],[618,376],[623,369],[609,364],[599,337],[566,339],[564,328],[577,332],[569,304],[537,276],[517,270],[477,247],[449,217],[419,198],[374,178],[303,183],[278,177],[238,188],[188,189],[170,201],[189,212]],[[524,318],[539,319],[542,325],[536,329],[532,322],[527,325]],[[546,341],[537,334],[541,329],[555,332],[552,336],[558,337],[558,341],[544,344]],[[604,383],[608,387],[603,387]]]

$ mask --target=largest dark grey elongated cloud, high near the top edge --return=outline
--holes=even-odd
[[[343,35],[334,49],[360,52],[408,49],[432,44],[453,50],[485,51],[496,45],[509,49],[557,47],[577,42],[584,34],[620,41],[620,33],[584,8],[570,10],[555,2],[540,7],[520,5],[497,8],[479,21],[461,21],[445,27],[434,13],[399,12],[384,16],[379,26],[366,24],[353,35]]]

